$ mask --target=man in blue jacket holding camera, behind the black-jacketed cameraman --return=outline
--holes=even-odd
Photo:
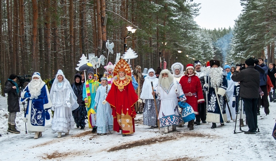
[[[268,92],[267,92],[267,86],[266,86],[268,67],[266,66],[266,64],[263,63],[263,58],[258,58],[258,60],[255,60],[255,64],[256,64],[255,69],[258,70],[260,73],[260,88],[264,93],[262,98],[261,96],[259,96],[259,104],[262,104],[264,106],[264,112],[266,115],[268,115],[269,102],[268,102]],[[258,107],[258,115],[260,115],[259,107]]]

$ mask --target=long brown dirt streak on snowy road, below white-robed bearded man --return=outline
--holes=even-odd
[[[166,135],[166,136],[161,136],[161,137],[153,137],[145,140],[137,140],[137,141],[132,141],[130,143],[122,144],[120,146],[116,146],[113,148],[110,148],[107,150],[107,152],[114,152],[122,149],[129,149],[133,147],[138,147],[138,146],[143,146],[143,145],[151,145],[151,144],[157,144],[161,143],[164,141],[171,141],[171,140],[178,140],[183,137],[214,137],[208,134],[202,134],[202,133],[171,133],[171,135]]]

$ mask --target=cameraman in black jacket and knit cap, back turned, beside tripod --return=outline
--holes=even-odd
[[[254,69],[254,65],[253,58],[246,59],[245,69],[240,71],[240,66],[237,66],[231,77],[233,81],[240,82],[240,97],[243,99],[249,128],[248,131],[244,132],[245,134],[255,134],[257,129],[257,103],[259,98],[260,74]]]

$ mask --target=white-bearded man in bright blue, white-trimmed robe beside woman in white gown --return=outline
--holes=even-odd
[[[45,118],[50,119],[48,109],[52,107],[47,85],[41,80],[40,73],[33,73],[31,82],[21,93],[21,101],[28,99],[24,122],[27,122],[28,133],[35,133],[34,139],[45,131]]]

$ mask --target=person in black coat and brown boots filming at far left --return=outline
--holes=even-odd
[[[11,74],[5,83],[4,89],[4,92],[8,94],[8,131],[11,133],[20,133],[20,131],[18,131],[15,126],[16,112],[20,112],[18,100],[19,88],[17,87],[16,77],[17,76],[15,74]]]

